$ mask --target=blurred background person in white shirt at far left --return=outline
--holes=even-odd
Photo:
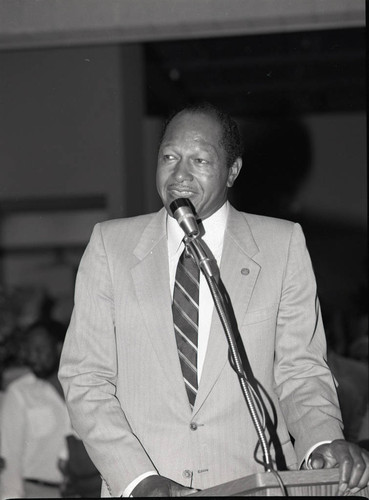
[[[7,387],[0,421],[1,498],[60,496],[71,424],[57,378],[64,325],[38,321],[23,336],[22,348],[30,372]]]

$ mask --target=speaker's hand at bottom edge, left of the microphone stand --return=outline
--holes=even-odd
[[[149,476],[132,491],[133,497],[185,497],[198,490],[186,488],[163,476]]]

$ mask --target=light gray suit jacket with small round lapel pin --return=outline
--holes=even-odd
[[[191,413],[165,217],[162,209],[97,224],[78,271],[59,377],[103,495],[120,496],[149,470],[199,489],[264,470],[216,311]],[[279,467],[296,468],[309,447],[343,437],[300,226],[230,207],[220,271],[265,402],[272,454]]]

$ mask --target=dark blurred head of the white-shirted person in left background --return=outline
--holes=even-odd
[[[26,363],[36,377],[47,379],[56,373],[64,335],[64,326],[54,321],[34,323],[25,332]]]

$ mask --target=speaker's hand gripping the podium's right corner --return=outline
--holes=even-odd
[[[343,439],[315,448],[310,457],[310,465],[312,469],[339,467],[338,492],[341,495],[349,491],[355,494],[369,483],[369,453]]]

